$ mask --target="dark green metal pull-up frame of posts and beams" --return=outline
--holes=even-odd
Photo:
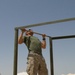
[[[55,23],[61,23],[61,22],[68,22],[68,21],[74,21],[74,18],[67,18],[67,19],[61,19],[51,22],[44,22],[44,23],[38,23],[38,24],[32,24],[27,26],[21,26],[21,27],[15,27],[15,40],[14,40],[14,66],[13,66],[13,75],[17,75],[17,61],[18,61],[18,30],[21,28],[29,28],[29,27],[35,27],[35,26],[43,26],[48,24],[55,24]],[[39,33],[40,34],[40,33]],[[53,48],[52,48],[52,40],[57,39],[65,39],[65,38],[75,38],[75,35],[69,35],[69,36],[59,36],[59,37],[49,37],[50,42],[50,71],[51,75],[54,75],[54,65],[53,65]]]

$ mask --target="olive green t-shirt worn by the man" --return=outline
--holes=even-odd
[[[24,36],[24,43],[26,44],[29,52],[42,54],[41,41],[35,36]]]

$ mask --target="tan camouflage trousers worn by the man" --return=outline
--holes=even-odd
[[[48,75],[44,58],[36,53],[28,56],[26,71],[28,75]]]

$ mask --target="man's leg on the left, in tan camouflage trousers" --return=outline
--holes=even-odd
[[[27,71],[28,75],[37,75],[38,63],[34,57],[28,57],[26,71]]]

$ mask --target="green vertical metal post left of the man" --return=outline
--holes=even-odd
[[[15,28],[13,75],[17,75],[17,61],[18,61],[18,29]]]

